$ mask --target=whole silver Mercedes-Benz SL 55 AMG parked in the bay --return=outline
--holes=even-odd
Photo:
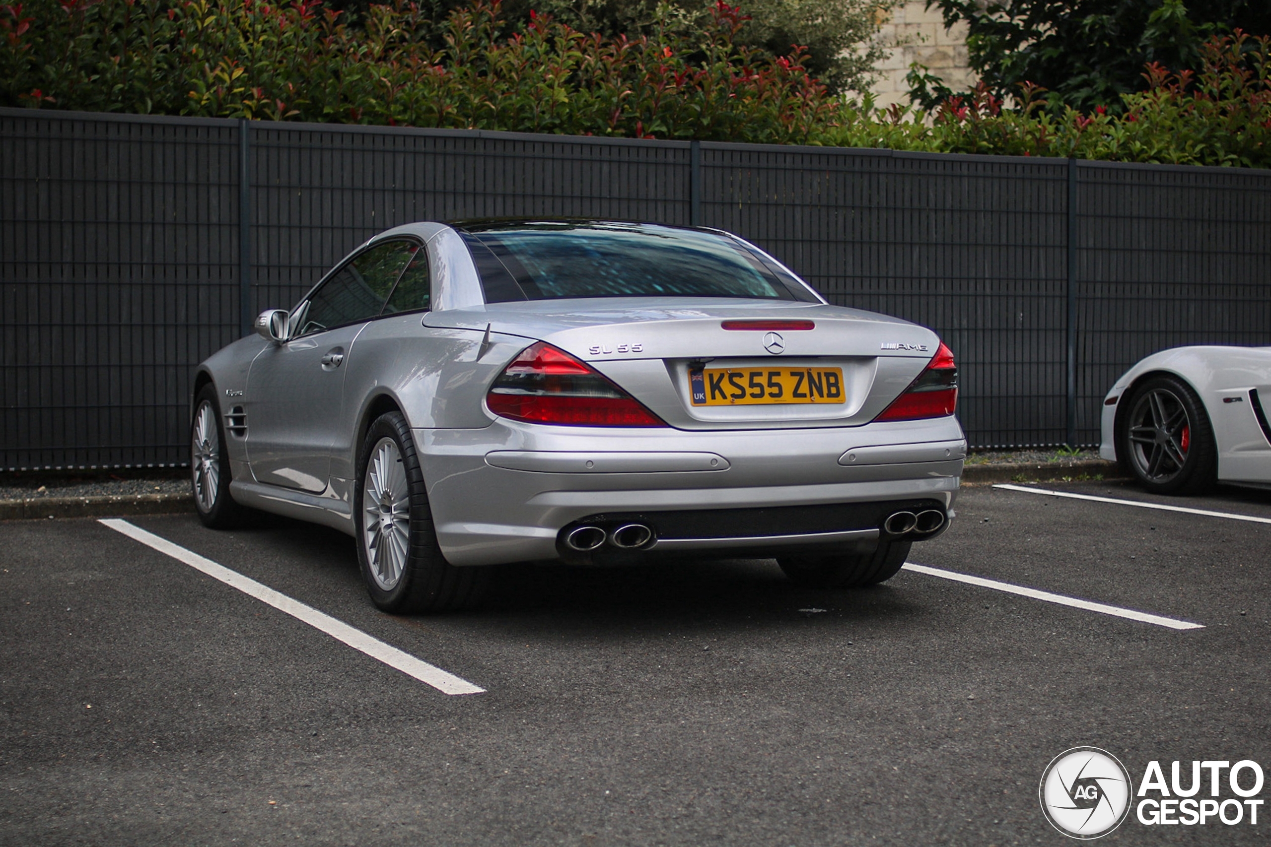
[[[770,556],[869,585],[953,517],[949,349],[728,232],[409,223],[255,329],[194,377],[198,514],[347,532],[386,611],[544,560]]]

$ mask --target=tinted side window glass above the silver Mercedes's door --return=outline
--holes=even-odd
[[[301,307],[300,335],[379,315],[402,269],[418,249],[414,241],[388,241],[358,254]]]

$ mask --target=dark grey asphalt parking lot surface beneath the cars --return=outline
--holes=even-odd
[[[1033,488],[1229,517],[966,489],[910,555],[1174,625],[771,561],[524,568],[479,612],[394,618],[337,532],[130,518],[484,690],[456,696],[102,522],[0,523],[0,843],[1057,844],[1037,789],[1068,748],[1135,782],[1271,764],[1271,522],[1230,517],[1271,495]],[[1268,829],[1131,811],[1103,843]]]

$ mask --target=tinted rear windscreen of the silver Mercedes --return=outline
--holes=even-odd
[[[812,298],[761,254],[713,232],[555,221],[460,225],[459,232],[488,303],[567,297]]]

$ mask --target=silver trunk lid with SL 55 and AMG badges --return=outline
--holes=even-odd
[[[813,329],[724,329],[723,321],[808,320]],[[681,429],[859,425],[872,420],[927,366],[937,335],[873,312],[793,301],[676,298],[557,300],[428,312],[426,326],[484,330],[544,340],[587,362],[655,414]],[[773,337],[773,333],[778,338]],[[841,399],[788,403],[797,385],[841,380]],[[834,370],[838,371],[834,371]],[[782,401],[695,404],[693,373],[714,371],[737,383],[773,387]],[[839,376],[841,373],[841,377]],[[699,387],[708,380],[698,382]],[[719,386],[716,385],[718,389]],[[719,397],[718,391],[713,395]]]

